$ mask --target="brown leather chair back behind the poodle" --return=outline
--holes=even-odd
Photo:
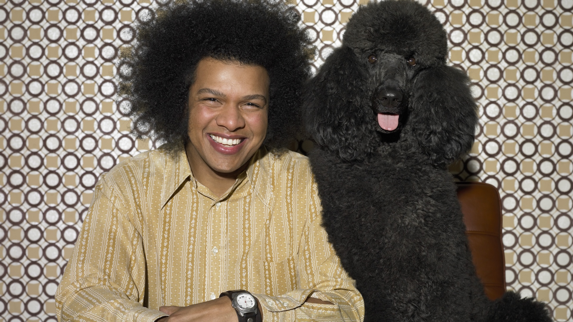
[[[499,192],[482,182],[456,182],[456,186],[477,276],[484,284],[485,294],[495,300],[505,292]]]

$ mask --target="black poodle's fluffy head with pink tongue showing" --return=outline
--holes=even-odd
[[[307,130],[344,160],[414,139],[434,164],[451,162],[471,147],[477,115],[469,79],[447,55],[444,28],[417,1],[360,7],[309,81]]]

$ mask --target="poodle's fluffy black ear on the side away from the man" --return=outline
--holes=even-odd
[[[421,70],[414,81],[410,121],[419,146],[435,165],[469,152],[477,125],[468,76],[451,66]]]

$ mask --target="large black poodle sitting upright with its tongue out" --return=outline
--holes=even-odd
[[[370,2],[305,93],[324,227],[367,321],[551,321],[543,303],[490,301],[446,166],[477,125],[444,28],[413,0]]]

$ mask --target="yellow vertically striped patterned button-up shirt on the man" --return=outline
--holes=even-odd
[[[185,150],[101,176],[56,293],[60,321],[155,321],[245,289],[266,321],[362,321],[363,299],[327,242],[308,159],[264,148],[221,198]],[[334,303],[304,303],[308,296]]]

